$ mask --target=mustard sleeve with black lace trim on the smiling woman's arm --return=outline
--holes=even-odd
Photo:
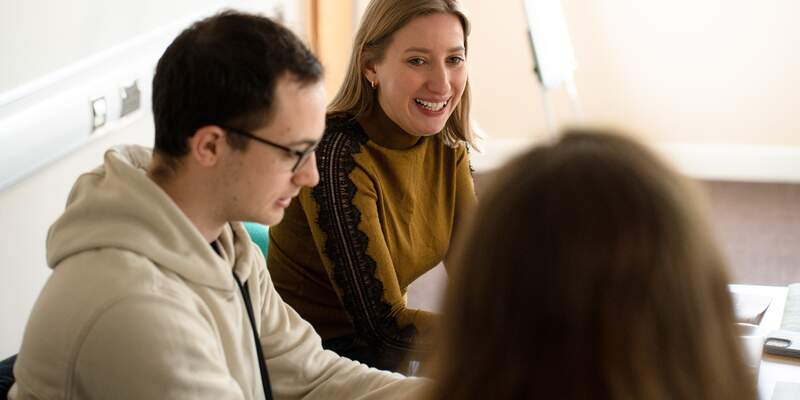
[[[320,183],[300,201],[309,213],[315,245],[356,335],[391,358],[426,351],[436,317],[406,308],[378,217],[376,191],[353,155],[366,137],[333,134],[317,150]],[[316,218],[314,215],[316,214]]]

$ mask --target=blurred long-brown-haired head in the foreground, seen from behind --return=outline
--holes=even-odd
[[[603,132],[505,166],[451,261],[438,398],[754,399],[700,200]]]

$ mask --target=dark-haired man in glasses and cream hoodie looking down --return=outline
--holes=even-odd
[[[422,380],[324,351],[232,222],[275,224],[317,183],[321,75],[263,17],[226,12],[175,39],[152,158],[109,150],[50,228],[11,399],[418,397]]]

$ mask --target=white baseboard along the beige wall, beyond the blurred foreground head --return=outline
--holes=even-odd
[[[495,169],[534,145],[527,138],[487,138],[473,152],[476,171]],[[652,146],[687,176],[704,180],[800,183],[800,146],[657,143]]]

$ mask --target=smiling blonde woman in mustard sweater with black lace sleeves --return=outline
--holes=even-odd
[[[373,0],[328,107],[320,183],[270,229],[281,297],[326,348],[370,366],[425,358],[438,316],[408,308],[406,288],[474,208],[468,34],[454,0]]]

